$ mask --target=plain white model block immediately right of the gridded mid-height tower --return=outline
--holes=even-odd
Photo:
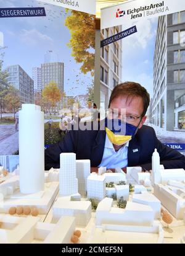
[[[87,180],[91,174],[90,160],[76,160],[76,177],[78,179],[78,193],[87,195]]]

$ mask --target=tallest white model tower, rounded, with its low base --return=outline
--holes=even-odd
[[[19,169],[19,176],[0,184],[0,213],[12,206],[30,206],[46,214],[59,183],[44,183],[44,113],[34,104],[22,104],[19,112]]]

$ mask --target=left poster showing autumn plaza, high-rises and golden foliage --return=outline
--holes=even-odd
[[[41,105],[46,148],[64,138],[61,117],[72,120],[64,108],[88,105],[95,13],[95,0],[0,0],[1,156],[19,154],[22,104]]]

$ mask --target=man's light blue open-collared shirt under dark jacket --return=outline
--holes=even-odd
[[[109,141],[108,136],[105,138],[104,154],[99,167],[107,167],[115,169],[117,167],[124,168],[128,166],[128,145],[129,141],[118,151],[115,151],[113,144]]]

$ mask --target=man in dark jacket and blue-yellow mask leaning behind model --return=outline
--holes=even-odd
[[[73,130],[67,133],[63,141],[46,149],[45,169],[59,168],[61,152],[75,152],[76,159],[90,159],[91,167],[124,169],[127,166],[141,166],[150,170],[155,148],[165,169],[185,169],[185,157],[160,143],[154,129],[144,125],[149,102],[149,94],[140,84],[119,84],[110,96],[108,118],[103,120],[106,127],[101,129],[101,121],[98,130]],[[126,113],[122,110],[126,110]],[[113,119],[109,117],[111,112]],[[108,128],[107,123],[112,120],[125,125],[124,135],[117,136],[114,126]]]

